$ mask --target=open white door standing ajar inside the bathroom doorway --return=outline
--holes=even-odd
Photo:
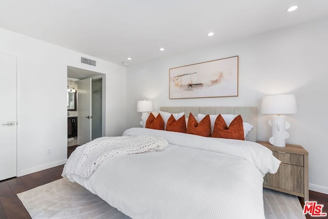
[[[77,81],[77,144],[83,145],[91,141],[91,78]]]

